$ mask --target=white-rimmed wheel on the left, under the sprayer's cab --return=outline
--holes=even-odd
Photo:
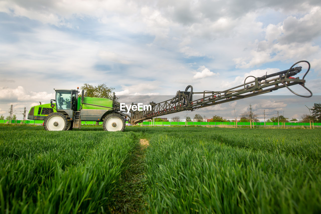
[[[67,129],[67,125],[67,118],[59,112],[49,114],[44,121],[44,127],[47,131],[64,131]]]

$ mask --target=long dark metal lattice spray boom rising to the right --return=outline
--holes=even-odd
[[[292,77],[297,75],[302,70],[302,67],[294,67],[300,62],[308,63],[308,70],[304,74],[302,79],[299,79],[299,77]],[[131,111],[131,123],[136,124],[138,122],[142,122],[143,120],[176,113],[179,111],[194,111],[195,109],[204,108],[207,106],[265,94],[284,87],[287,87],[292,93],[296,95],[302,97],[311,97],[312,92],[304,86],[304,77],[307,75],[309,70],[310,64],[308,61],[299,61],[291,66],[291,68],[288,70],[265,75],[262,77],[248,76],[245,78],[244,84],[224,91],[193,92],[193,87],[191,85],[188,85],[185,91],[178,91],[176,96],[172,99],[160,103],[150,103],[150,105],[152,105],[152,110]],[[250,77],[254,78],[254,80],[246,82],[246,80]],[[293,92],[289,88],[289,86],[297,84],[307,89],[310,95],[300,95]],[[203,95],[203,97],[193,100],[193,94]]]

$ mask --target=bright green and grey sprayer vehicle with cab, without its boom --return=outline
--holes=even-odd
[[[48,131],[80,129],[81,121],[103,121],[106,131],[123,131],[126,115],[117,111],[119,105],[108,98],[87,97],[78,90],[55,89],[56,99],[51,103],[33,106],[29,120],[44,120]]]

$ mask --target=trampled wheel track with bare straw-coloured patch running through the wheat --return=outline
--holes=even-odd
[[[140,139],[131,158],[131,166],[122,175],[120,186],[114,195],[114,207],[111,213],[144,213],[143,193],[145,188],[145,150],[149,146],[147,139]]]

